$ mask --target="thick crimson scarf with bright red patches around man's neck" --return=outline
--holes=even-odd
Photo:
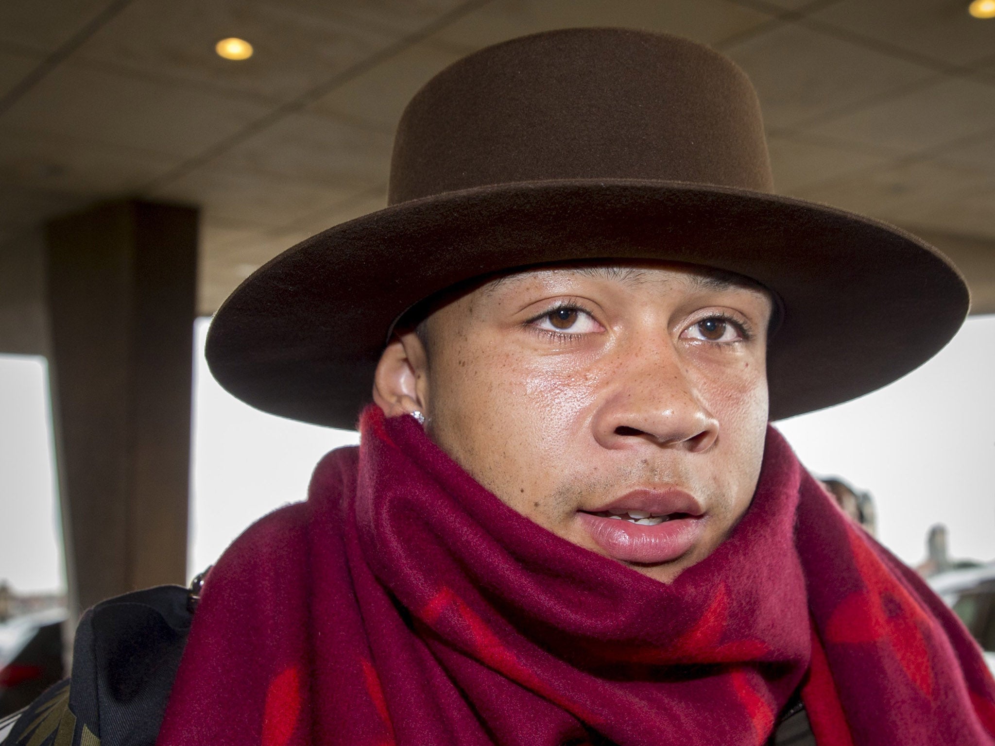
[[[755,745],[799,686],[819,746],[995,743],[975,643],[773,429],[746,515],[671,585],[413,418],[361,431],[208,576],[159,746]]]

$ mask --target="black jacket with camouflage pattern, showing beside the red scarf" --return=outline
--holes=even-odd
[[[196,596],[159,586],[104,601],[80,622],[72,675],[0,720],[0,746],[153,746],[193,621]],[[795,697],[772,746],[815,746]],[[716,744],[720,746],[720,744]]]

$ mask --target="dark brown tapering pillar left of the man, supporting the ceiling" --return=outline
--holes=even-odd
[[[115,202],[46,227],[74,611],[186,577],[197,210]]]

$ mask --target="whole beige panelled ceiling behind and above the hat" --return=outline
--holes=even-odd
[[[385,204],[408,98],[567,26],[688,36],[764,108],[777,191],[924,234],[995,312],[995,19],[966,0],[5,0],[0,241],[98,199],[203,210],[200,310]],[[237,36],[256,54],[217,57]]]

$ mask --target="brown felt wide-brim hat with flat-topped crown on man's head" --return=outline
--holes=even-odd
[[[232,293],[208,363],[261,410],[351,428],[407,309],[571,260],[690,263],[767,287],[783,314],[771,420],[884,386],[957,331],[967,287],[939,252],[771,190],[756,93],[721,55],[622,29],[498,44],[412,99],[389,207],[301,242]]]

